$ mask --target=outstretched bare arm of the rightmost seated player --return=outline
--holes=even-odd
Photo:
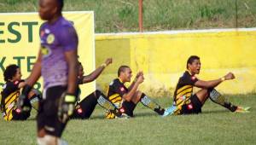
[[[195,86],[199,87],[199,88],[206,88],[206,89],[214,88],[214,87],[218,86],[218,84],[224,82],[224,80],[230,80],[230,79],[234,79],[234,78],[235,78],[234,73],[227,73],[224,77],[214,79],[214,80],[209,80],[209,81],[198,80],[195,82]]]

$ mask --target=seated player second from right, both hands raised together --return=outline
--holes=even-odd
[[[133,110],[137,106],[137,103],[141,102],[145,107],[152,109],[159,115],[169,114],[164,108],[160,107],[160,105],[153,102],[147,95],[138,90],[138,86],[142,84],[144,80],[143,72],[137,73],[132,84],[126,88],[125,83],[131,82],[131,77],[131,68],[121,66],[118,70],[118,78],[113,79],[108,86],[108,99],[113,102],[116,107],[119,107],[120,112],[133,117]],[[172,111],[170,113],[172,113]],[[114,114],[109,112],[106,114],[106,117],[111,119],[114,117]]]

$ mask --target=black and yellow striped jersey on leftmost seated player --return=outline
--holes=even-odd
[[[1,92],[1,110],[3,112],[3,119],[5,120],[13,119],[12,111],[15,109],[16,102],[20,96],[19,84],[20,81],[8,81],[3,85],[3,90]]]

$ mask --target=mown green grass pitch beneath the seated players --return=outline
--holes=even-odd
[[[250,106],[251,113],[230,113],[207,101],[200,115],[161,118],[139,105],[132,119],[103,119],[96,108],[91,119],[71,120],[63,139],[80,144],[255,144],[256,95],[228,96],[231,102]],[[157,100],[163,106],[170,98]],[[27,121],[0,121],[0,144],[36,144],[35,113]]]

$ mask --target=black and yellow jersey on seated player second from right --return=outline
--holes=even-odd
[[[108,85],[108,99],[110,102],[113,102],[116,107],[121,107],[122,97],[127,93],[128,89],[119,78],[113,79],[113,81]]]

